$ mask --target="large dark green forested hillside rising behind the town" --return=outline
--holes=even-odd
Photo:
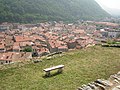
[[[0,22],[98,19],[109,16],[94,0],[0,0]]]

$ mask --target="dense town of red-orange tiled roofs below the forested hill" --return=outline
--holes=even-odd
[[[120,41],[120,25],[77,21],[0,24],[0,64],[29,61],[54,52],[82,49],[108,39]]]

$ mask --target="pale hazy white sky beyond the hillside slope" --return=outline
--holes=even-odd
[[[120,9],[120,0],[96,0],[102,6],[114,9]]]

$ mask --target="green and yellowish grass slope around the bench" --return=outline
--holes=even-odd
[[[64,64],[62,74],[43,78],[43,69]],[[42,63],[0,71],[0,90],[75,90],[120,71],[120,48],[95,46],[70,51]]]

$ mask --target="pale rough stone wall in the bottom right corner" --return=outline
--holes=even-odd
[[[87,85],[82,85],[77,90],[120,90],[120,72],[111,75],[108,80],[97,79]]]

